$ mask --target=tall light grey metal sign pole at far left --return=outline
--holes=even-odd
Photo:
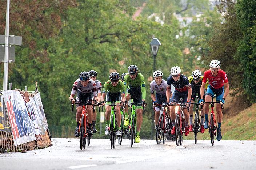
[[[10,12],[10,0],[7,0],[6,1],[6,23],[5,23],[4,85],[3,85],[3,90],[7,90],[7,83],[8,83],[9,12]]]

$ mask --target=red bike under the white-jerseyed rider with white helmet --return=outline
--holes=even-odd
[[[158,127],[156,131],[156,143],[160,144],[161,140],[163,139],[163,144],[164,144],[167,139],[167,134],[170,131],[169,129],[170,118],[168,116],[169,107],[167,105],[155,104],[153,107],[154,111],[156,111],[156,106],[164,107],[163,114],[161,114],[158,119],[158,123],[157,123]]]

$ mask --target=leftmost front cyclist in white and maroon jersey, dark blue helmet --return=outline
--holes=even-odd
[[[74,96],[76,94],[76,99]],[[94,99],[93,99],[94,97]],[[79,78],[74,82],[73,88],[71,90],[71,94],[69,96],[69,100],[72,104],[77,102],[87,102],[95,104],[98,100],[97,97],[97,88],[96,83],[92,79],[90,79],[90,74],[88,72],[81,72]],[[77,127],[75,131],[75,136],[79,137],[78,133],[79,121],[82,114],[82,105],[76,105],[76,122]],[[88,119],[88,127],[90,129],[88,136],[92,136],[92,105],[87,105],[87,119]]]

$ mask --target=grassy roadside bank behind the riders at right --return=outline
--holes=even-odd
[[[256,103],[233,116],[223,116],[221,124],[222,140],[256,140]],[[189,132],[184,139],[194,139]],[[208,129],[204,134],[197,133],[197,140],[210,140]]]

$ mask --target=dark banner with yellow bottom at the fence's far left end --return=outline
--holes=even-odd
[[[4,109],[4,98],[0,94],[0,131],[11,132],[6,111]]]

